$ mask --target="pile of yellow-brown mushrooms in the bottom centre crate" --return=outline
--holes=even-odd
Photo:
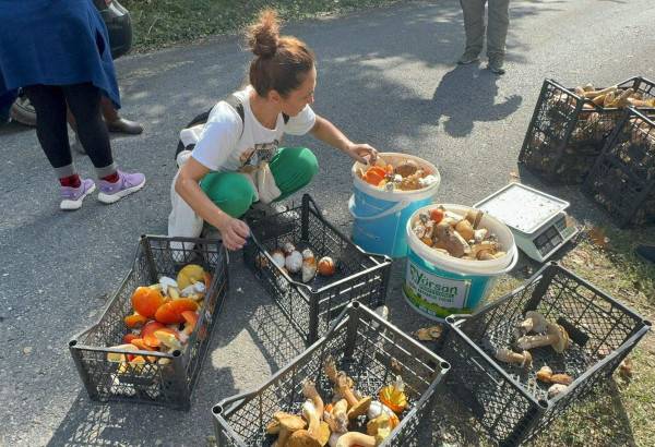
[[[378,400],[361,396],[354,380],[336,370],[327,358],[323,371],[333,385],[331,403],[324,403],[313,382],[302,383],[302,415],[278,411],[266,426],[266,433],[277,435],[274,447],[374,447],[400,424],[407,408],[404,384],[400,376],[382,387]],[[366,424],[364,420],[366,419]],[[365,433],[366,432],[366,433]]]

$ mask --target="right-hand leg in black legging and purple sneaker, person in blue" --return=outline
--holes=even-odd
[[[62,89],[75,117],[80,141],[100,179],[98,200],[110,204],[141,190],[145,176],[122,172],[114,162],[109,133],[100,114],[100,90],[91,83],[67,85]]]

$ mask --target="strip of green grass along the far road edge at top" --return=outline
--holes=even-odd
[[[397,3],[400,0],[121,0],[132,16],[134,52],[235,34],[264,8],[302,20]]]

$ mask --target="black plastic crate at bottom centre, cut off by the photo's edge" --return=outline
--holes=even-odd
[[[396,375],[403,378],[409,406],[381,446],[431,445],[427,439],[432,435],[431,410],[450,365],[365,305],[353,302],[324,337],[259,389],[214,406],[218,446],[271,446],[276,437],[266,434],[266,424],[276,411],[300,414],[306,400],[302,382],[307,378],[327,402],[333,388],[323,372],[327,357],[354,379],[362,396],[376,397]]]

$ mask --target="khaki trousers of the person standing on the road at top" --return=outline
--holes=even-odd
[[[466,52],[479,55],[485,43],[485,3],[488,3],[487,56],[504,57],[510,0],[460,0],[464,12]]]

